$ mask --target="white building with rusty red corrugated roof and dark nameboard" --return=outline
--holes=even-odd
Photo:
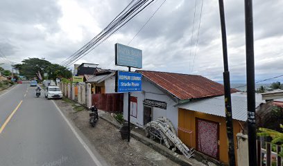
[[[178,130],[176,104],[224,94],[222,84],[200,75],[137,71],[142,74],[142,91],[131,93],[130,122],[143,127],[161,116]],[[123,117],[128,119],[128,93],[123,97]]]

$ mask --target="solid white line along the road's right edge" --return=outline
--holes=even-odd
[[[67,124],[69,125],[69,127],[71,128],[71,131],[73,131],[73,133],[75,134],[76,138],[78,138],[78,140],[80,141],[80,143],[83,145],[83,147],[85,147],[85,150],[87,151],[87,153],[89,154],[89,156],[92,158],[92,160],[94,161],[94,163],[97,166],[102,166],[101,163],[99,162],[99,160],[96,158],[96,156],[94,156],[94,154],[92,153],[92,150],[89,149],[89,147],[87,146],[87,144],[83,141],[82,138],[80,138],[80,136],[78,135],[78,133],[76,132],[76,130],[74,129],[74,127],[71,125],[71,123],[69,122],[69,120],[67,120],[67,118],[64,116],[64,114],[62,113],[61,109],[57,106],[57,104],[52,100],[53,104],[55,105],[56,109],[60,112],[61,116],[64,118],[64,120],[67,122]]]

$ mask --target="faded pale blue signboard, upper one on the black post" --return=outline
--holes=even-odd
[[[142,68],[142,51],[123,44],[115,44],[115,64]]]

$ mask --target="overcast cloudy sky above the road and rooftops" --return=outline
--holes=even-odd
[[[163,1],[155,0],[76,64],[88,62],[99,64],[101,68],[126,70],[125,67],[114,66],[114,44],[118,42],[127,45]],[[39,57],[59,64],[100,33],[129,2],[1,0],[1,52],[15,63],[28,57]],[[151,21],[130,42],[129,46],[143,50],[144,70],[197,74],[215,81],[222,80],[223,54],[218,1],[203,0],[201,21],[202,1],[196,0],[196,3],[194,19],[195,1],[165,1]],[[227,0],[224,6],[231,80],[245,82],[244,1]],[[254,1],[256,80],[283,73],[282,6],[282,0]],[[0,63],[3,62],[3,58],[0,58]],[[280,80],[283,81],[282,78]]]

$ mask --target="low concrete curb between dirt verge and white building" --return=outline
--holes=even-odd
[[[109,122],[110,124],[112,124],[117,129],[119,129],[122,126],[122,125],[119,125],[119,124],[115,124],[114,122],[111,122],[110,120],[108,120],[107,118],[104,118],[103,116],[99,116],[99,118]],[[175,152],[171,151],[170,149],[167,149],[166,147],[158,144],[157,142],[154,142],[153,140],[151,140],[149,138],[141,136],[139,133],[136,133],[135,131],[130,131],[130,136],[132,136],[132,138],[135,138],[136,140],[139,140],[139,142],[144,143],[144,145],[151,147],[155,151],[158,151],[160,154],[166,156],[166,158],[169,158],[170,160],[172,160],[173,162],[175,162],[179,165],[188,165],[188,166],[193,165],[192,163],[189,163],[189,161],[180,158],[179,154],[176,154]]]

